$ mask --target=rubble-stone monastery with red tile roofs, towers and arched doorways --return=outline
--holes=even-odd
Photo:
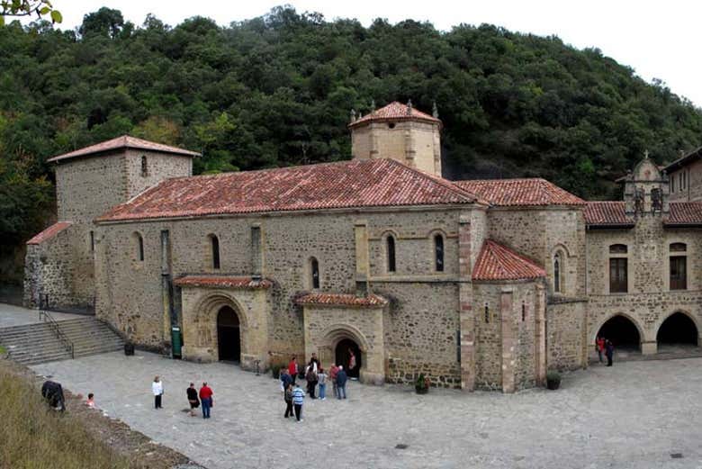
[[[348,128],[350,161],[216,176],[129,136],[50,158],[58,222],[28,241],[25,302],[88,305],[187,360],[352,350],[362,382],[465,390],[587,366],[599,334],[698,346],[702,149],[646,156],[623,201],[585,202],[544,179],[443,178],[442,123],[411,104]]]

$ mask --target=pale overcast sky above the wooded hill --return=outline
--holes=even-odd
[[[515,32],[555,34],[579,49],[598,47],[645,80],[660,78],[674,93],[702,107],[702,2],[698,0],[53,0],[64,17],[61,28],[68,29],[101,6],[121,10],[135,24],[153,13],[170,25],[194,15],[227,25],[266,14],[284,3],[301,13],[320,12],[328,20],[356,18],[365,25],[378,17],[391,23],[411,18],[444,31],[458,23],[492,23]]]

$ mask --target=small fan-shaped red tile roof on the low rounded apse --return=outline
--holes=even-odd
[[[528,280],[544,277],[545,270],[533,260],[501,244],[485,240],[473,267],[473,280]]]

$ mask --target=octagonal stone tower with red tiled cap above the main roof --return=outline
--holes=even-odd
[[[437,104],[432,115],[414,109],[411,101],[395,101],[358,117],[352,110],[348,128],[354,159],[392,158],[441,177],[442,123]]]

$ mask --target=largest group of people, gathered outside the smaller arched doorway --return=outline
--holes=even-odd
[[[351,360],[349,368],[353,364],[356,366],[356,357],[349,350]],[[332,392],[337,399],[347,398],[348,374],[344,365],[332,364],[329,367],[329,374],[322,368],[317,354],[313,353],[310,362],[301,374],[301,368],[297,363],[297,356],[293,356],[287,368],[283,368],[280,374],[281,391],[285,401],[284,417],[294,417],[297,421],[302,421],[302,405],[305,400],[305,392],[302,391],[300,383],[296,383],[298,376],[304,376],[307,382],[307,394],[311,399],[325,401],[327,399],[327,382],[331,381]]]

